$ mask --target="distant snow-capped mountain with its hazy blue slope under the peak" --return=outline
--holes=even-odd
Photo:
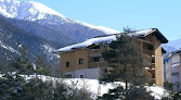
[[[44,39],[57,42],[64,42],[61,41],[63,37],[67,38],[65,39],[66,41],[70,41],[68,43],[73,43],[100,35],[119,33],[103,26],[93,26],[79,21],[74,21],[41,3],[33,1],[0,0],[0,14],[5,17],[34,22],[34,25],[14,24],[14,22],[10,23],[21,29],[41,36]],[[34,26],[37,25],[38,27],[40,25],[46,27],[43,28],[44,32],[42,33],[42,30],[34,28]]]

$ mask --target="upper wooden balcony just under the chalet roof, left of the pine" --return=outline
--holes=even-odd
[[[102,57],[104,49],[91,49],[89,50],[89,57]]]

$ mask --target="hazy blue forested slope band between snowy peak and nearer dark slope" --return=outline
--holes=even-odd
[[[37,22],[28,22],[28,21],[22,21],[16,18],[8,18],[4,16],[1,16],[1,18],[5,20],[10,24],[14,25],[15,27],[18,27],[21,29],[24,29],[26,32],[29,32],[29,34],[40,36],[47,40],[56,41],[60,45],[66,46],[73,42],[77,42],[77,40],[73,39],[68,35],[66,35],[63,32],[59,32],[55,29],[52,29],[50,27],[40,25]]]

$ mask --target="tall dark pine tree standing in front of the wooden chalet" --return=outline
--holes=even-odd
[[[125,93],[120,95],[126,100],[131,100],[132,96],[140,95],[138,91],[146,92],[143,86],[147,80],[143,73],[141,50],[137,45],[135,37],[131,37],[130,33],[130,29],[125,29],[124,34],[117,35],[117,40],[109,43],[111,49],[102,53],[108,63],[108,72],[100,79],[101,83],[124,82],[126,84]],[[134,98],[134,100],[137,99]]]

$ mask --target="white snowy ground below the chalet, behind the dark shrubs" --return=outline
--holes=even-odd
[[[30,78],[35,77],[35,75],[31,75],[31,76],[22,75],[22,76],[25,77],[26,79],[30,79]],[[2,77],[1,74],[0,74],[0,77]],[[125,83],[121,83],[121,82],[102,85],[102,84],[99,84],[98,79],[54,78],[54,77],[49,77],[49,76],[44,76],[44,75],[38,75],[38,77],[40,77],[43,82],[57,80],[57,82],[63,82],[68,86],[76,87],[78,89],[86,88],[88,91],[90,91],[92,93],[91,97],[94,99],[96,98],[96,96],[102,96],[103,93],[106,93],[108,91],[108,89],[113,89],[113,88],[117,87],[118,85],[121,85],[125,87]],[[160,99],[161,97],[168,96],[167,91],[161,86],[156,86],[156,85],[150,86],[150,87],[146,86],[146,88],[148,91],[153,91],[152,96],[154,96],[155,99]]]

